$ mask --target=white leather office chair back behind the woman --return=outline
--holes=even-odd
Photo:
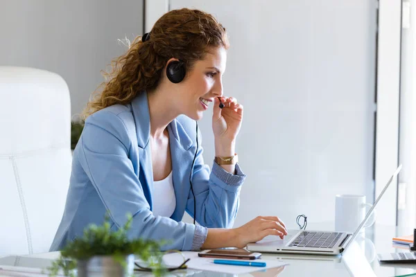
[[[0,66],[0,256],[49,251],[69,186],[70,106],[59,75]]]

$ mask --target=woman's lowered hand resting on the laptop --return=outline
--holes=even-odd
[[[233,229],[236,239],[236,247],[246,247],[250,242],[258,242],[267,235],[279,235],[283,240],[288,234],[286,226],[279,217],[258,216],[243,226]]]

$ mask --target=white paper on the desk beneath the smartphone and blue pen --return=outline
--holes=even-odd
[[[273,267],[282,267],[284,265],[288,265],[288,262],[284,262],[282,260],[261,260],[257,259],[256,262],[266,262],[266,267],[245,267],[241,265],[216,265],[214,262],[214,258],[201,258],[198,257],[198,252],[193,251],[182,251],[184,256],[188,259],[190,258],[189,262],[187,262],[187,266],[190,269],[199,269],[199,270],[207,270],[207,271],[216,271],[216,272],[223,272],[228,274],[245,274],[253,271],[260,271],[265,269],[270,269]],[[215,258],[216,260],[220,260]],[[227,260],[227,259],[224,259]],[[177,267],[183,262],[182,256],[178,255],[177,253],[166,254],[164,256],[164,263],[167,266]]]

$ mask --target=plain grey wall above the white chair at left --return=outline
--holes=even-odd
[[[58,73],[78,114],[127,50],[117,39],[143,33],[143,0],[0,0],[0,65]]]

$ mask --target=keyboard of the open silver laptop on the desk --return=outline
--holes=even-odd
[[[304,231],[293,240],[290,247],[332,248],[343,233],[324,233]]]

